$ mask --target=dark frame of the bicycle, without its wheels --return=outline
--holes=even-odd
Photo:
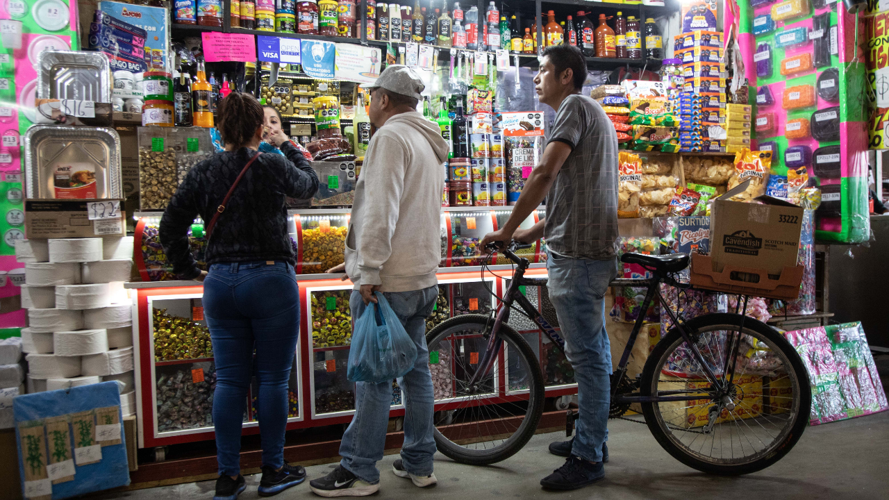
[[[500,331],[501,325],[505,322],[509,321],[509,311],[512,309],[512,305],[517,303],[522,310],[525,310],[528,318],[532,319],[534,324],[543,332],[544,335],[549,337],[549,340],[553,343],[556,343],[559,348],[565,351],[565,339],[558,335],[555,328],[549,325],[546,319],[543,318],[543,315],[539,310],[533,307],[531,302],[519,291],[519,286],[547,286],[548,278],[525,278],[525,270],[528,269],[530,265],[527,259],[518,257],[509,249],[502,249],[501,252],[505,254],[510,260],[517,263],[517,270],[512,277],[512,282],[509,284],[509,288],[507,289],[506,294],[503,295],[503,302],[501,302],[499,310],[497,311],[497,316],[494,319],[493,327],[490,332],[485,332],[485,335],[488,336],[488,345],[485,349],[485,354],[479,361],[478,369],[474,375],[469,380],[469,387],[475,387],[479,381],[483,380],[485,376],[490,372],[493,368],[494,360],[497,358],[497,353],[500,352],[502,346],[502,340],[500,335],[497,333]],[[676,313],[669,308],[667,303],[663,300],[661,296],[661,292],[658,290],[658,285],[661,282],[667,282],[674,286],[681,286],[674,279],[669,278],[666,275],[661,275],[655,271],[654,278],[650,279],[628,279],[628,278],[618,278],[615,279],[612,283],[613,285],[619,286],[648,286],[648,292],[645,294],[645,301],[642,304],[641,310],[648,310],[648,308],[652,305],[653,300],[657,300],[658,303],[661,304],[661,307],[667,311],[669,315],[669,319],[673,322],[674,325],[679,328],[679,333],[685,339],[685,342],[691,346],[691,351],[693,354],[693,358],[697,361],[701,367],[703,367],[706,375],[709,380],[712,381],[713,389],[717,392],[721,392],[727,387],[725,384],[725,375],[722,379],[722,383],[717,378],[716,374],[712,372],[709,365],[704,361],[703,356],[701,355],[701,351],[698,350],[698,346],[693,342],[691,335],[685,329],[683,323],[677,318]],[[739,301],[740,302],[740,301]],[[745,309],[746,309],[746,299],[745,299]],[[633,330],[629,335],[629,340],[627,345],[624,347],[623,354],[621,355],[621,361],[618,363],[617,368],[614,370],[613,375],[617,375],[616,377],[612,377],[612,380],[620,381],[624,374],[627,372],[627,365],[629,363],[629,354],[633,349],[633,346],[636,344],[637,336],[639,332],[642,330],[642,324],[644,322],[645,315],[640,314],[636,323],[633,325]],[[741,316],[741,326],[739,327],[738,333],[740,334],[741,329],[743,328],[743,315]],[[493,334],[493,335],[492,335]],[[730,353],[737,350],[736,339],[737,342],[740,343],[741,335],[734,335],[730,337],[730,347],[726,351],[726,362],[728,359],[731,359]],[[727,366],[727,365],[726,365]],[[733,373],[728,374],[729,379],[728,383],[732,382]],[[694,399],[701,399],[701,390],[676,390],[676,391],[658,391],[657,396],[641,396],[641,395],[626,395],[626,394],[617,394],[617,383],[612,383],[612,400],[615,403],[656,403],[661,401],[690,401]],[[685,395],[682,395],[685,394]]]

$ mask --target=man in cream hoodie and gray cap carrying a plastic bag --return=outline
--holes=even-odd
[[[346,237],[345,270],[355,284],[349,305],[358,319],[377,302],[374,292],[381,292],[416,343],[416,364],[399,381],[407,396],[404,445],[393,472],[426,487],[436,483],[426,318],[438,296],[441,165],[448,144],[438,125],[416,110],[424,85],[412,69],[389,66],[366,88],[377,131],[364,157]],[[340,466],[310,481],[312,491],[365,496],[380,489],[376,463],[383,457],[391,400],[391,382],[356,383],[356,414],[342,437]]]

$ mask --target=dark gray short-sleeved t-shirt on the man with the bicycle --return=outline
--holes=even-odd
[[[572,147],[547,196],[544,237],[549,249],[605,261],[615,255],[617,133],[598,102],[580,94],[562,101],[549,142]]]

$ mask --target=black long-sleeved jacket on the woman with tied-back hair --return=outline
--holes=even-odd
[[[284,198],[310,198],[318,177],[290,142],[284,156],[263,153],[237,185],[213,229],[204,260],[216,262],[286,261],[295,264],[287,233]],[[170,200],[159,236],[172,271],[183,279],[200,274],[188,247],[188,228],[200,215],[209,223],[237,174],[256,151],[223,151],[195,165]]]

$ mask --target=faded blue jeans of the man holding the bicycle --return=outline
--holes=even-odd
[[[605,331],[605,292],[617,276],[617,262],[573,259],[549,253],[549,299],[565,338],[565,356],[574,368],[577,421],[572,454],[602,461],[611,406],[611,343]]]

